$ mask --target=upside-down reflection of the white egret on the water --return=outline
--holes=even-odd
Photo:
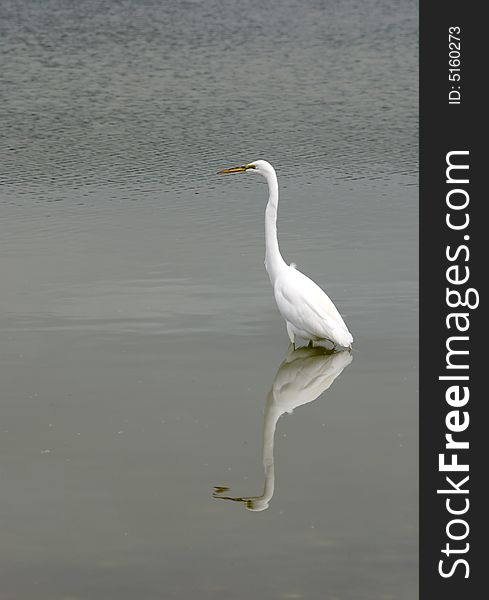
[[[324,347],[293,349],[280,365],[267,396],[263,425],[263,467],[265,485],[260,496],[224,496],[228,487],[214,487],[214,498],[242,502],[248,510],[259,512],[269,507],[275,487],[273,444],[277,421],[284,413],[316,400],[352,361],[351,352],[331,352]]]

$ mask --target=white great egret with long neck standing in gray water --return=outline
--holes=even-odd
[[[292,344],[295,344],[297,336],[309,340],[311,345],[316,341],[328,340],[333,346],[351,348],[353,337],[327,294],[312,279],[298,271],[294,263],[288,265],[280,254],[277,238],[278,180],[275,169],[266,160],[255,160],[242,167],[219,172],[220,175],[226,173],[254,173],[267,180],[269,196],[265,210],[265,267]]]

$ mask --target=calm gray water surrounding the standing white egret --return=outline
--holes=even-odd
[[[400,0],[0,2],[2,600],[417,597],[416,36]],[[351,356],[287,354],[265,183],[216,175],[257,158]]]

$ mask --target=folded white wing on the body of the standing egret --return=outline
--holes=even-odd
[[[282,316],[298,329],[325,338],[350,336],[336,306],[304,273],[288,269],[275,282],[274,292]]]

